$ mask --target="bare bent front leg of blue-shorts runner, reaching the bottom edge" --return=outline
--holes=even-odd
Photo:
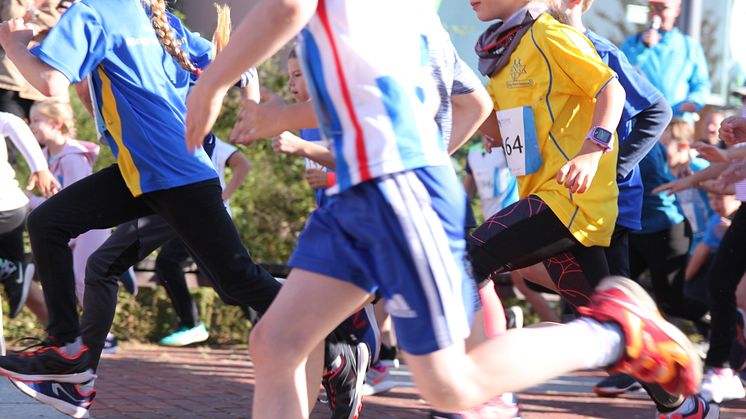
[[[329,296],[335,298],[329,304]],[[346,282],[295,269],[251,333],[255,418],[307,418],[306,362],[314,348],[369,294]],[[302,310],[302,315],[299,314]],[[293,319],[293,321],[288,321]]]

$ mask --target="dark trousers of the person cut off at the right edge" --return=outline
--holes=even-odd
[[[705,364],[728,366],[731,345],[736,336],[736,288],[746,272],[746,205],[736,212],[730,228],[707,272],[710,298],[710,349]]]

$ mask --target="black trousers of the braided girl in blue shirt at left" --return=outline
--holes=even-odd
[[[29,216],[29,236],[47,300],[51,336],[65,342],[81,334],[68,241],[91,229],[111,228],[153,213],[163,217],[186,243],[214,278],[221,297],[261,313],[267,310],[280,284],[254,263],[241,243],[223,206],[217,179],[135,198],[119,168],[112,165],[63,189]],[[84,310],[90,297],[86,292]],[[110,305],[113,313],[115,304]]]

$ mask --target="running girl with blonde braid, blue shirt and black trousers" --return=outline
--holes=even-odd
[[[183,145],[184,101],[193,75],[210,60],[210,41],[187,31],[156,0],[84,0],[28,50],[31,35],[20,19],[0,25],[3,49],[40,92],[55,95],[90,76],[98,128],[117,164],[65,188],[29,217],[49,338],[36,351],[0,358],[0,372],[62,381],[59,385],[75,395],[73,411],[81,413],[93,392],[77,383],[93,374],[76,311],[72,237],[158,213],[215,278],[221,294],[264,312],[280,285],[241,243],[205,152]],[[102,304],[86,295],[85,307]],[[55,385],[35,384],[51,397]]]

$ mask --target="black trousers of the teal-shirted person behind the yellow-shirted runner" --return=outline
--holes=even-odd
[[[684,220],[655,233],[631,234],[630,269],[637,280],[647,269],[658,307],[666,314],[700,320],[707,305],[684,295],[684,273],[689,259],[692,230]]]

